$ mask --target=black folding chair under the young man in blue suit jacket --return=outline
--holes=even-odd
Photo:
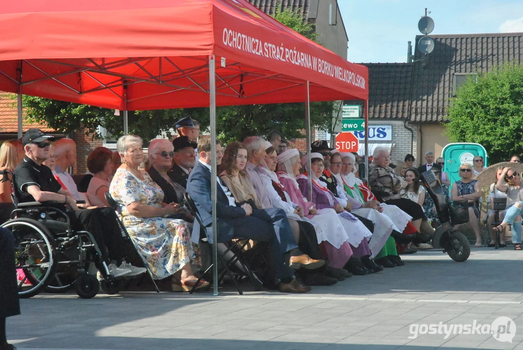
[[[203,225],[203,222],[201,220],[200,214],[198,212],[198,209],[196,208],[195,202],[192,199],[191,195],[189,193],[184,194],[185,203],[187,204],[187,207],[189,211],[192,213],[192,215],[195,217],[196,220],[198,220],[198,223],[200,224],[200,242],[203,244],[209,244],[209,240],[207,238],[207,234],[205,232],[205,226]],[[239,239],[238,242],[242,242],[242,239]],[[217,244],[217,242],[214,242],[214,244]],[[234,286],[236,287],[236,290],[238,291],[238,294],[243,295],[243,291],[240,289],[240,286],[238,286],[238,281],[236,278],[234,278],[230,267],[235,265],[236,263],[240,263],[241,269],[243,274],[245,274],[249,280],[251,280],[251,283],[254,285],[254,288],[256,290],[260,290],[261,282],[256,277],[256,275],[252,272],[251,268],[249,268],[244,263],[244,259],[242,258],[242,250],[244,247],[248,244],[248,240],[244,240],[243,243],[235,243],[231,242],[230,246],[222,252],[218,252],[218,260],[222,263],[222,267],[219,268],[218,271],[218,283],[223,279],[225,275],[229,276],[229,278],[233,281]],[[201,274],[200,278],[198,278],[197,283],[194,287],[189,291],[189,293],[193,293],[198,286],[200,280],[202,279],[203,275],[205,275],[209,270],[213,267],[213,263],[210,264],[210,266]]]

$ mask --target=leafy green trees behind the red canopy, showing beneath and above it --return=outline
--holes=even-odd
[[[314,26],[299,13],[280,9],[274,18],[313,41],[318,37]],[[101,137],[98,126],[116,137],[123,134],[122,117],[115,116],[114,110],[33,96],[24,96],[23,103],[29,121],[43,121],[66,135],[81,126],[95,138]],[[312,127],[330,128],[332,102],[311,103],[310,111]],[[218,107],[217,129],[224,142],[265,136],[273,129],[280,130],[286,138],[297,138],[301,137],[299,130],[305,128],[304,114],[303,103]],[[139,134],[144,140],[153,139],[185,115],[197,119],[202,130],[209,126],[209,108],[129,111],[129,132]]]

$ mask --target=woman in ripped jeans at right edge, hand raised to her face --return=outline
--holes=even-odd
[[[507,194],[507,209],[505,209],[505,219],[507,221],[508,211],[511,207],[515,206],[518,202],[523,200],[521,196],[521,177],[517,171],[513,168],[506,167],[503,169],[501,175],[496,183],[496,188]],[[495,231],[501,231],[499,226],[494,228]],[[514,217],[514,223],[512,223],[512,243],[514,249],[521,250],[521,214],[517,214]]]

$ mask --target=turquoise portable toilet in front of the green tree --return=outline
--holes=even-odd
[[[459,167],[463,163],[469,163],[474,166],[473,159],[481,155],[485,160],[485,166],[488,166],[488,155],[485,148],[479,143],[458,142],[449,143],[443,148],[441,156],[445,160],[443,171],[450,176],[450,185],[460,179]]]

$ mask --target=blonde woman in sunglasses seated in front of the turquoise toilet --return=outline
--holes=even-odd
[[[480,209],[477,200],[481,198],[480,183],[472,178],[472,166],[468,163],[463,163],[459,167],[460,180],[452,184],[451,199],[453,201],[468,200],[469,201],[469,224],[476,235],[475,247],[481,247],[481,231],[480,231]]]

